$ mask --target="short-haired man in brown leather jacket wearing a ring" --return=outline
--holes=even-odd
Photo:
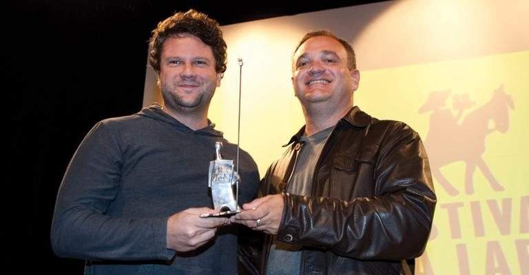
[[[333,33],[292,62],[306,124],[231,218],[267,233],[261,274],[413,274],[437,202],[419,135],[353,105],[355,53]]]

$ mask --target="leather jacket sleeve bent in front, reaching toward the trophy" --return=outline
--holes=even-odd
[[[408,126],[386,130],[373,182],[346,183],[371,184],[375,195],[344,200],[286,193],[279,240],[363,260],[411,259],[424,252],[437,201],[428,158]]]

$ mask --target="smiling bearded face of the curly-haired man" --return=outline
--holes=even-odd
[[[168,38],[160,57],[160,89],[165,107],[176,113],[207,112],[222,73],[211,47],[196,36]]]

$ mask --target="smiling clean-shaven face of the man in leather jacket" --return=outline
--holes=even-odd
[[[344,46],[329,36],[305,41],[293,56],[292,83],[304,107],[351,108],[360,73],[347,67]]]

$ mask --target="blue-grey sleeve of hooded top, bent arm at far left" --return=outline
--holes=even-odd
[[[56,198],[51,242],[58,256],[98,260],[169,260],[167,218],[107,215],[121,184],[121,148],[107,124],[87,133]]]

